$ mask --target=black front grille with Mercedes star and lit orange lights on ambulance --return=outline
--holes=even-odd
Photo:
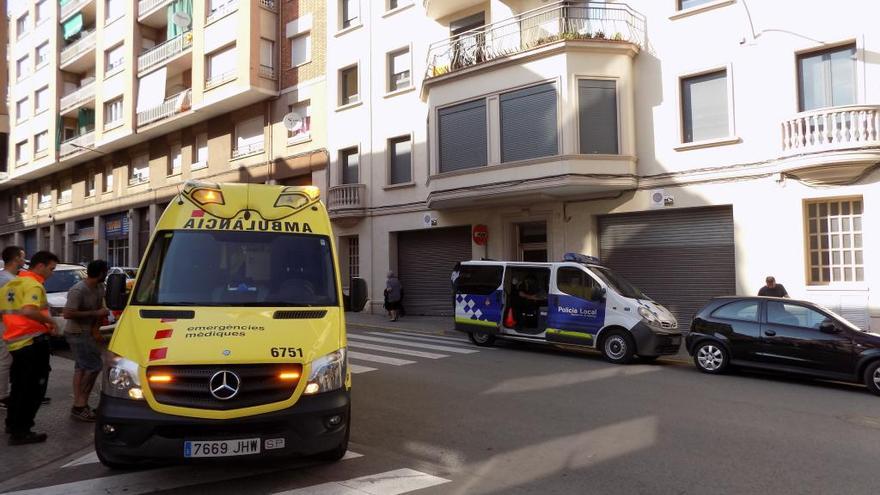
[[[227,375],[225,385],[221,372]],[[151,366],[147,377],[168,375],[168,382],[149,382],[156,402],[192,409],[230,410],[253,407],[290,398],[299,379],[280,378],[281,373],[302,374],[300,364],[235,364]],[[238,379],[236,387],[235,377]],[[213,384],[212,384],[212,379]],[[213,386],[212,386],[213,385]],[[215,393],[212,393],[212,389]],[[219,390],[218,390],[219,389]],[[231,389],[237,389],[232,394]],[[230,397],[231,395],[231,397]],[[226,398],[229,397],[229,398]]]

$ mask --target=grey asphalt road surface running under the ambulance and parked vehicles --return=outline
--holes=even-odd
[[[79,428],[68,451],[4,471],[0,492],[880,492],[880,398],[858,386],[706,376],[668,361],[615,366],[592,353],[476,348],[463,336],[352,329],[350,342],[352,443],[338,463],[118,473],[96,463]],[[37,449],[0,446],[3,459]]]

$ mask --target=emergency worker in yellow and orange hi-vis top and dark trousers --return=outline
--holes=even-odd
[[[49,335],[55,333],[55,322],[49,316],[43,284],[57,264],[57,256],[39,251],[31,258],[29,269],[22,270],[0,294],[6,325],[3,340],[12,354],[12,393],[6,414],[9,445],[45,442],[48,438],[31,428],[49,383]]]

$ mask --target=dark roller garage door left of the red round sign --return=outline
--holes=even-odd
[[[471,228],[417,230],[397,234],[397,266],[403,306],[412,315],[452,315],[449,276],[471,259]]]

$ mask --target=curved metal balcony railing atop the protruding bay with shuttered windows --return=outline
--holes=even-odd
[[[432,43],[425,77],[442,76],[557,41],[617,41],[643,46],[645,25],[645,17],[623,3],[556,2]]]

